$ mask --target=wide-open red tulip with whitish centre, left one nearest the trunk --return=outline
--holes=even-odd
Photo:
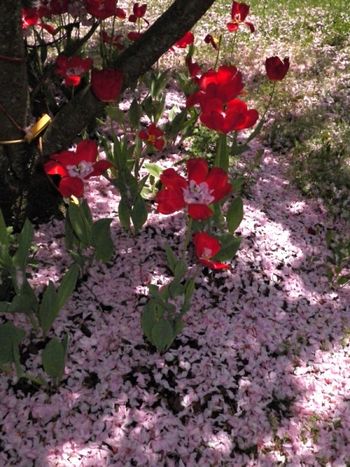
[[[74,195],[81,198],[84,196],[84,181],[102,175],[112,166],[106,160],[96,162],[97,153],[95,141],[81,141],[74,151],[52,154],[50,160],[44,164],[44,170],[48,175],[61,177],[58,190],[62,196]]]

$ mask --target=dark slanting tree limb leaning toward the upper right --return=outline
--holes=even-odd
[[[169,48],[189,31],[212,6],[215,0],[175,0],[172,6],[125,50],[116,68],[124,76],[124,88],[132,85]],[[88,90],[77,95],[56,115],[45,134],[44,154],[49,155],[67,147],[97,115],[104,105]]]

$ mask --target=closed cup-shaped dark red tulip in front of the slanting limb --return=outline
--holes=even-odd
[[[102,102],[114,102],[120,96],[123,74],[119,70],[96,70],[91,72],[91,90]]]

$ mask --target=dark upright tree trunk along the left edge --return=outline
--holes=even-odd
[[[0,0],[0,141],[22,139],[27,123],[28,81],[21,30],[21,2]],[[0,144],[0,207],[20,212],[28,182],[25,144]]]

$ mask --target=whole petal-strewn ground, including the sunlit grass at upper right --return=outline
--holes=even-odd
[[[308,2],[316,7],[307,10],[296,8],[305,1],[286,0],[283,12],[275,3],[252,1],[257,33],[237,39],[240,53],[226,44],[225,59],[248,87],[263,81],[264,57],[291,60],[278,110],[235,167],[252,168],[253,179],[232,269],[204,268],[184,331],[157,353],[140,316],[148,285],[170,280],[164,245],[180,246],[183,214],[152,211],[132,237],[117,220],[118,193],[104,180],[90,182],[94,218],[113,219],[115,254],[89,269],[55,321],[53,333],[69,335],[58,389],[1,374],[0,466],[350,465],[350,285],[330,284],[326,242],[329,229],[349,231],[350,19],[346,1],[343,10],[334,6],[342,0],[334,9]],[[217,5],[196,38],[225,28],[227,2]],[[260,111],[268,99],[261,89],[253,99]],[[171,98],[170,107],[184,103],[175,92]],[[174,151],[160,164],[181,157]],[[39,267],[30,281],[40,289],[59,281],[71,259],[63,221],[35,235]],[[191,248],[189,256],[195,262]],[[21,316],[13,321],[29,333]],[[31,337],[21,363],[44,375],[46,341]]]

